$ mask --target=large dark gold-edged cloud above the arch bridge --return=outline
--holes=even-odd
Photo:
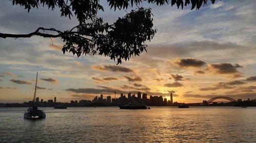
[[[224,74],[231,78],[243,77],[242,73],[237,70],[236,66],[229,63],[208,64],[207,71],[215,75]]]

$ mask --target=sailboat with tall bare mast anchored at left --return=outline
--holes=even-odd
[[[33,98],[33,106],[29,107],[28,110],[24,112],[24,118],[25,119],[46,118],[46,113],[44,112],[44,110],[39,110],[37,108],[37,105],[36,105],[36,102],[35,102],[36,88],[37,88],[37,74],[38,74],[38,72],[36,72],[36,82],[35,82],[35,92],[34,92],[34,98]]]

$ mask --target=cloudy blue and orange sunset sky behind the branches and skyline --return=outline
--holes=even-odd
[[[100,4],[104,22],[126,13]],[[138,91],[167,99],[173,93],[174,101],[185,103],[216,96],[256,99],[256,1],[216,1],[200,10],[141,6],[152,8],[158,32],[146,43],[147,52],[121,65],[100,55],[63,54],[58,38],[0,39],[0,103],[31,100],[37,71],[37,96],[58,102]],[[11,1],[1,2],[0,21],[0,33],[11,34],[38,27],[63,31],[77,24],[58,10],[39,7],[28,13]]]

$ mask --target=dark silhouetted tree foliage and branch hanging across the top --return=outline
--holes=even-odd
[[[2,38],[29,38],[42,36],[48,38],[59,37],[63,42],[63,53],[72,52],[78,57],[82,54],[109,56],[117,64],[122,60],[129,60],[131,56],[140,55],[146,51],[146,41],[151,41],[157,30],[153,28],[153,15],[151,9],[138,7],[142,2],[168,5],[183,9],[191,4],[191,10],[200,9],[207,4],[207,0],[107,0],[111,9],[115,11],[137,6],[136,9],[119,17],[113,24],[104,23],[101,17],[97,17],[98,11],[104,11],[99,0],[11,0],[13,5],[20,5],[30,12],[32,8],[39,6],[48,7],[51,10],[58,8],[60,16],[76,17],[78,25],[70,30],[59,31],[55,28],[39,27],[30,34],[3,34]],[[215,0],[210,0],[212,4]],[[56,34],[51,34],[52,32]]]

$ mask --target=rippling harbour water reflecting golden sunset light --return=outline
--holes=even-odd
[[[26,109],[0,108],[0,142],[256,142],[255,107],[41,107],[40,120]]]

